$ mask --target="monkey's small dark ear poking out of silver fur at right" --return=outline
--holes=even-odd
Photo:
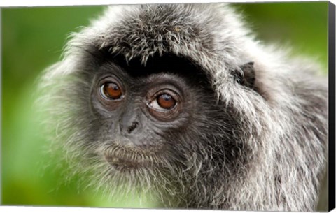
[[[235,81],[240,85],[253,88],[255,82],[254,62],[240,66],[240,71],[235,71]]]

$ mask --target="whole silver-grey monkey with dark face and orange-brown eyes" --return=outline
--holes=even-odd
[[[64,51],[40,100],[52,150],[88,185],[162,207],[314,211],[328,84],[230,4],[108,6]]]

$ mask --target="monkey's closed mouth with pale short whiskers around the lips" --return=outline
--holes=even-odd
[[[105,149],[104,157],[113,168],[121,172],[151,168],[158,164],[155,153],[130,147],[109,147]]]

